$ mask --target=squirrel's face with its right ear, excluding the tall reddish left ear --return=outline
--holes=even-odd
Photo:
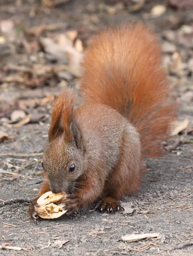
[[[71,192],[80,186],[76,183],[83,174],[84,147],[82,136],[74,122],[70,125],[71,140],[60,134],[51,140],[43,157],[43,169],[53,193]]]

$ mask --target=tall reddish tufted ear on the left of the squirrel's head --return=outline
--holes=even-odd
[[[71,140],[70,123],[73,116],[74,93],[72,90],[63,90],[56,101],[52,111],[51,127],[48,132],[48,139],[53,140],[60,133]]]

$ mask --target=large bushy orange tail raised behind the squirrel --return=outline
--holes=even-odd
[[[85,102],[116,109],[141,135],[142,156],[162,154],[176,116],[156,37],[142,24],[108,29],[85,50],[80,90]]]

